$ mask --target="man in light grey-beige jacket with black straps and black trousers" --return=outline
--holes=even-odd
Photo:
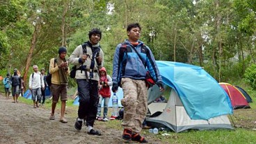
[[[104,53],[99,46],[101,38],[101,30],[93,28],[89,32],[89,41],[77,46],[69,58],[70,64],[77,66],[75,78],[79,91],[78,118],[74,127],[81,130],[85,118],[88,134],[92,135],[101,135],[93,128],[99,102],[98,70],[102,68],[104,60]]]

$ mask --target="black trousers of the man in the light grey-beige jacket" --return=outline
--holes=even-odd
[[[93,127],[97,115],[97,105],[99,103],[98,82],[96,80],[77,80],[79,92],[78,117],[86,118],[86,125]]]

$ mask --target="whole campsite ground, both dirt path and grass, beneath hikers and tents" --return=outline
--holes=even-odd
[[[49,109],[44,106],[34,109],[21,101],[13,103],[0,96],[0,143],[124,143],[119,120],[96,121],[95,128],[102,131],[102,136],[90,136],[85,127],[80,132],[74,129],[77,107],[67,107],[68,123],[63,124],[58,121],[59,107],[56,120],[49,120]],[[143,129],[143,136],[149,143],[255,143],[255,118],[255,108],[236,109],[230,119],[231,123],[234,121],[235,131],[159,132],[154,135]]]

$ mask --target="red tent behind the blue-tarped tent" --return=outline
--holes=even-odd
[[[233,109],[250,108],[246,97],[243,96],[243,93],[241,93],[237,87],[225,82],[220,82],[219,84],[226,91],[227,95],[230,96]]]

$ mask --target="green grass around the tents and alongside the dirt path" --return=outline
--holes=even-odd
[[[218,129],[215,131],[187,131],[181,133],[175,132],[159,132],[159,134],[151,134],[148,129],[143,129],[142,134],[147,139],[160,140],[161,143],[255,143],[256,142],[256,92],[248,87],[246,84],[238,83],[237,85],[243,87],[249,95],[253,98],[253,103],[250,103],[251,109],[237,109],[234,114],[230,116],[230,122],[235,130]],[[3,85],[0,84],[0,92],[3,93]],[[67,114],[76,118],[77,106],[72,105],[72,93],[75,89],[70,89],[70,99],[67,100]],[[28,105],[33,105],[32,100],[19,98],[19,102],[24,102]],[[58,102],[57,109],[61,105]],[[47,99],[44,109],[51,109],[51,100]],[[57,111],[56,109],[56,111]],[[109,109],[109,116],[111,115],[111,108]],[[106,125],[109,129],[122,130],[120,120],[111,120],[108,123],[99,122],[99,124]],[[162,134],[168,134],[163,136]]]

